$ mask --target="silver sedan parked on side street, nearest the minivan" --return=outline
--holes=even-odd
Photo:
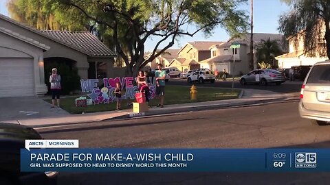
[[[281,85],[283,82],[285,82],[284,73],[274,69],[256,69],[247,75],[243,75],[239,79],[239,83],[241,83],[242,86],[246,84],[261,84],[266,86],[270,83]]]

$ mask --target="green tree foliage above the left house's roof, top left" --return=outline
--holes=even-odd
[[[90,23],[80,16],[75,8],[66,8],[53,0],[9,0],[10,17],[15,20],[45,30],[88,30]]]

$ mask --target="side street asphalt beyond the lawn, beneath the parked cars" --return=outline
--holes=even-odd
[[[227,79],[228,81],[223,82],[217,81],[214,84],[210,84],[210,82],[205,82],[204,84],[199,84],[198,82],[195,82],[195,86],[210,86],[210,87],[222,87],[222,88],[232,88],[232,81],[231,79]],[[191,84],[188,84],[187,79],[170,79],[166,84],[169,85],[181,85],[181,86],[191,86]],[[252,89],[258,89],[258,90],[270,90],[276,93],[296,93],[300,92],[301,86],[303,85],[302,81],[296,81],[296,82],[284,82],[281,84],[281,86],[276,86],[276,84],[268,84],[267,86],[259,86],[259,85],[253,85],[249,84],[246,86],[241,86],[239,84],[239,81],[234,81],[234,88],[252,88]]]

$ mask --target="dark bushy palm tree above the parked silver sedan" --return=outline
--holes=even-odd
[[[276,56],[283,53],[281,45],[278,44],[279,40],[261,40],[256,47],[256,62],[265,61],[272,66],[276,66]]]

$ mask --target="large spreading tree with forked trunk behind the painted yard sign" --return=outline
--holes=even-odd
[[[124,60],[128,75],[172,47],[179,36],[206,35],[217,27],[230,35],[245,32],[248,16],[236,10],[246,0],[56,0],[76,8],[107,30],[115,51]],[[65,9],[63,9],[65,10]],[[195,25],[191,31],[188,25]],[[110,38],[108,38],[110,39]],[[144,58],[148,39],[157,39],[151,56]],[[128,52],[126,52],[128,51]]]

